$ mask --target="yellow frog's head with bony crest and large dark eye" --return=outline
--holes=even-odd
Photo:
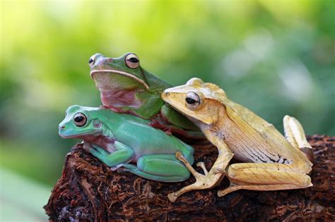
[[[192,120],[211,124],[217,121],[225,92],[212,83],[192,78],[185,85],[164,90],[163,100]]]

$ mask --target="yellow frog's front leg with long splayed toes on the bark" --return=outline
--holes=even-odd
[[[196,178],[196,182],[186,187],[183,187],[177,192],[172,192],[167,195],[171,202],[175,202],[177,197],[185,192],[189,192],[191,190],[203,190],[215,186],[218,182],[220,182],[223,174],[226,174],[225,171],[222,171],[222,169],[225,169],[228,166],[230,159],[233,158],[233,153],[230,151],[225,142],[219,141],[220,139],[213,135],[213,131],[206,129],[203,130],[203,132],[207,139],[218,148],[218,158],[214,162],[210,171],[207,171],[204,163],[199,162],[198,164],[196,164],[196,166],[200,166],[203,169],[205,173],[205,175],[203,175],[196,172],[191,164],[189,164],[187,159],[185,159],[180,152],[177,152],[177,159],[182,161],[184,165],[189,169],[189,171],[194,175],[194,178]]]

